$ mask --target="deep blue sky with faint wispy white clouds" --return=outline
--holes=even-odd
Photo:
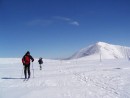
[[[98,41],[130,47],[129,0],[0,0],[0,57],[61,58]]]

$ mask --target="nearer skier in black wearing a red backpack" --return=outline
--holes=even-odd
[[[34,61],[33,57],[30,55],[30,52],[27,51],[26,54],[22,58],[25,79],[27,79],[27,72],[28,72],[28,79],[30,78],[30,75],[31,75],[31,73],[30,73],[30,60],[32,62]]]

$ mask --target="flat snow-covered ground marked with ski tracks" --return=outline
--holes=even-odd
[[[0,59],[0,98],[130,98],[130,61],[44,60],[23,81],[20,59]]]

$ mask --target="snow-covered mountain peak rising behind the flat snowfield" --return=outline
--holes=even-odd
[[[69,59],[86,58],[86,59],[119,59],[130,56],[130,47],[112,45],[105,42],[97,42],[83,48],[72,55]]]

